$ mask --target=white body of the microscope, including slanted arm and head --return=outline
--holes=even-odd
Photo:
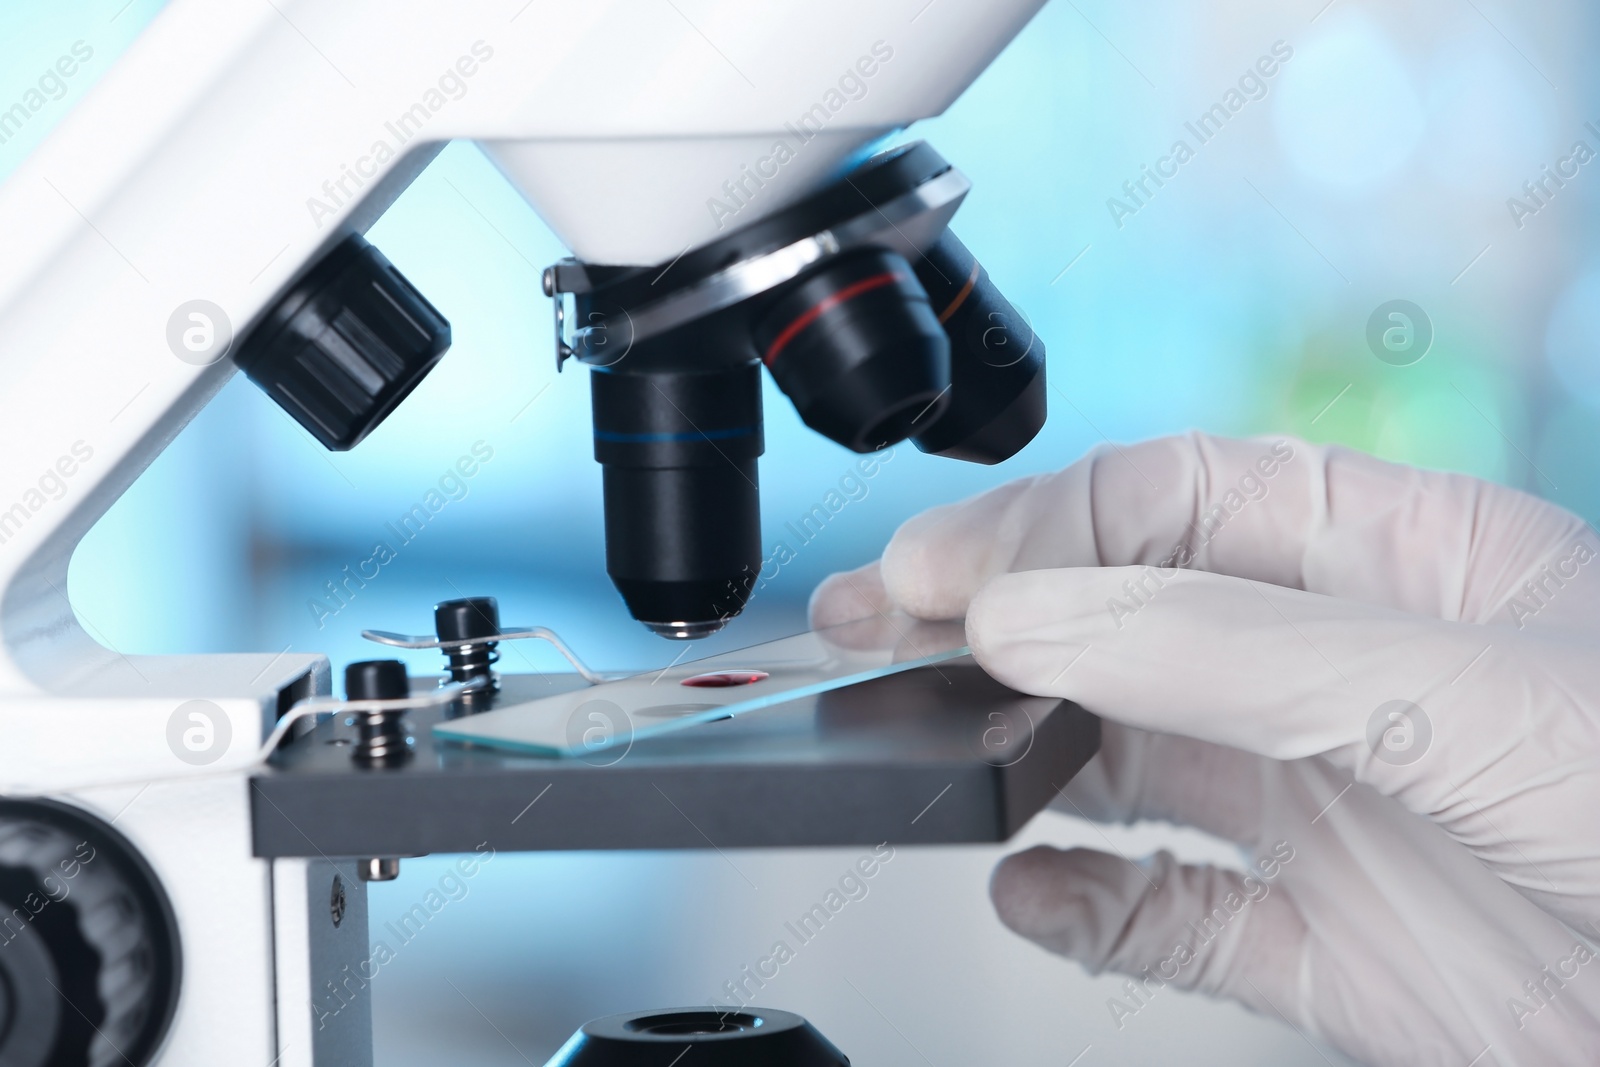
[[[328,693],[326,659],[123,656],[66,595],[78,539],[234,373],[229,339],[451,139],[579,259],[667,262],[942,112],[1042,2],[173,0],[0,187],[0,792],[114,821],[165,888],[158,1062],[371,1057],[365,1014],[330,1035],[309,1009],[320,861],[250,845],[258,745],[290,686]],[[224,717],[176,720],[232,737],[214,761],[174,755],[187,701]]]

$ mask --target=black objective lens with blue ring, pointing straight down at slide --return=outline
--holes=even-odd
[[[606,573],[653,633],[715,633],[762,568],[762,368],[589,376]]]

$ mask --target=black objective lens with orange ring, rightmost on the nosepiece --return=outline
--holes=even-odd
[[[946,230],[917,262],[917,278],[950,339],[950,403],[914,437],[917,448],[997,464],[1045,426],[1045,342]]]

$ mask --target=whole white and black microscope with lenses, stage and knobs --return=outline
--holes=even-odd
[[[370,1064],[365,883],[406,856],[995,841],[1050,800],[1096,720],[970,661],[538,757],[446,729],[597,681],[494,672],[549,635],[491,598],[373,635],[440,648],[443,681],[374,659],[342,701],[326,656],[125,656],[67,598],[77,542],[235,368],[347,450],[438,363],[448,318],[363,234],[454,139],[571,250],[528,302],[587,365],[606,569],[662,638],[755,585],[762,374],[856,453],[1014,454],[1045,354],[950,230],[970,182],[874,146],[1042,3],[166,5],[0,187],[0,1062]],[[797,1016],[704,1006],[552,1062],[662,1041],[848,1062]]]

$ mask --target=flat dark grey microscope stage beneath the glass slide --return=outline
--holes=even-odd
[[[502,675],[494,702],[582,685]],[[435,737],[446,713],[408,713],[398,766],[354,761],[342,717],[282,749],[251,777],[254,854],[1002,841],[1099,747],[1098,718],[970,657],[576,758]]]

